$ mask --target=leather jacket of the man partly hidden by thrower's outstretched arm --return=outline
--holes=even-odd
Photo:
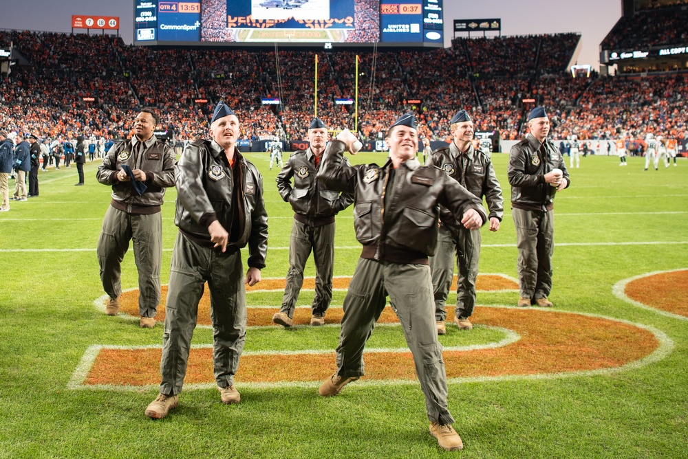
[[[444,170],[466,190],[482,199],[485,197],[487,207],[490,210],[489,219],[495,218],[502,221],[504,216],[504,199],[502,198],[502,188],[499,186],[495,168],[492,166],[491,159],[482,151],[473,149],[465,155],[461,155],[454,142],[433,151],[428,166],[437,166]],[[458,227],[461,219],[455,219],[453,214],[445,208],[440,208],[440,221],[444,225]]]

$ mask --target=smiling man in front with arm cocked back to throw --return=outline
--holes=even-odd
[[[350,166],[342,155],[354,152],[355,137],[343,131],[325,150],[318,179],[328,190],[354,193],[354,229],[363,252],[344,299],[337,369],[320,386],[322,396],[338,394],[363,376],[363,348],[387,296],[409,344],[425,395],[430,433],[444,449],[463,443],[447,408],[447,376],[435,326],[428,256],[437,245],[438,204],[462,225],[477,229],[487,221],[482,201],[436,167],[416,159],[418,131],[413,113],[387,131],[389,159],[384,166]]]

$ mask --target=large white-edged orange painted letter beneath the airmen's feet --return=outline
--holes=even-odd
[[[337,278],[334,289],[345,289],[348,278]],[[312,278],[305,280],[304,289],[313,287]],[[264,280],[260,289],[250,291],[283,291],[283,280]],[[258,287],[258,286],[256,286]],[[515,280],[501,275],[479,276],[479,291],[517,291]],[[206,289],[207,290],[207,289]],[[206,293],[207,294],[207,293]],[[163,294],[163,298],[164,298]],[[204,296],[199,306],[201,318],[209,322],[209,301]],[[250,295],[248,295],[250,304]],[[248,326],[275,327],[272,314],[279,307],[248,308]],[[122,311],[136,316],[138,291],[122,295]],[[205,311],[205,312],[202,312]],[[164,304],[158,310],[158,320],[164,313]],[[453,320],[453,307],[447,306],[447,321]],[[338,335],[341,307],[327,311],[326,330]],[[295,324],[308,324],[309,308],[297,308]],[[578,374],[614,370],[637,361],[652,359],[652,355],[666,352],[670,342],[659,331],[608,317],[579,313],[517,309],[505,306],[479,306],[473,315],[477,328],[497,328],[505,335],[496,343],[479,346],[445,346],[443,356],[447,377],[459,381],[475,378],[528,377],[546,374]],[[389,306],[378,323],[398,324]],[[160,326],[158,326],[160,327]],[[158,328],[160,329],[160,328]],[[297,327],[296,333],[310,333],[308,327]],[[321,381],[334,370],[334,348],[329,350],[303,350],[252,352],[249,331],[246,350],[236,376],[240,384],[285,383],[312,384]],[[285,333],[294,333],[285,331]],[[398,333],[402,335],[399,329]],[[460,333],[452,330],[451,333]],[[161,331],[162,334],[162,331]],[[446,337],[440,337],[440,342]],[[161,340],[162,341],[162,340]],[[121,346],[92,346],[87,350],[69,386],[72,388],[140,388],[160,383],[160,345],[125,348]],[[670,345],[668,346],[671,347]],[[662,350],[664,348],[664,350]],[[415,367],[408,348],[367,349],[365,354],[366,381],[416,379]],[[212,345],[195,345],[189,356],[186,386],[205,387],[213,384]]]

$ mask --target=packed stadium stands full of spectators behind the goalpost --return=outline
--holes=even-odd
[[[661,17],[672,21],[675,9]],[[619,21],[605,41],[647,39],[655,30],[636,36],[624,27]],[[682,27],[671,27],[680,36]],[[553,137],[631,131],[685,137],[682,74],[572,78],[567,69],[578,34],[455,38],[449,49],[359,52],[150,49],[108,35],[25,31],[2,31],[0,41],[30,63],[14,65],[1,80],[0,125],[41,137],[126,137],[137,111],[151,107],[164,126],[189,138],[206,131],[208,113],[224,99],[238,112],[244,139],[303,139],[314,115],[316,55],[318,115],[334,129],[354,127],[354,107],[335,100],[354,98],[359,57],[358,132],[365,139],[382,139],[391,120],[408,110],[418,113],[423,137],[447,139],[458,109],[472,113],[477,131],[517,139],[535,104],[547,107]],[[279,98],[281,105],[262,105],[261,98]]]

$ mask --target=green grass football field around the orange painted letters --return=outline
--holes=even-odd
[[[264,174],[270,236],[262,276],[283,278],[292,212],[277,193],[279,170],[268,170],[268,154],[246,156]],[[480,271],[515,278],[507,160],[508,155],[493,156],[506,215],[499,232],[482,229]],[[384,155],[352,157],[354,163],[373,161],[381,164]],[[332,399],[317,394],[317,383],[237,382],[241,403],[231,406],[206,385],[184,390],[179,407],[160,421],[144,415],[157,394],[154,386],[75,388],[70,381],[91,346],[160,346],[163,327],[142,329],[121,314],[106,316],[94,304],[103,295],[96,243],[110,200],[109,187],[96,181],[96,162],[86,164],[83,187],[74,187],[76,168],[40,172],[40,196],[11,201],[10,212],[0,214],[0,458],[686,458],[688,320],[612,293],[627,278],[688,268],[688,161],[648,172],[643,164],[643,158],[619,167],[616,157],[586,157],[570,171],[572,186],[555,200],[550,300],[552,313],[606,317],[650,330],[660,352],[608,371],[453,379],[449,408],[465,445],[458,452],[440,450],[427,432],[415,381],[363,378]],[[174,200],[172,189],[162,211],[163,283],[177,234]],[[360,252],[352,208],[338,216],[336,245],[334,275],[350,276]],[[122,271],[122,287],[135,289],[131,250]],[[312,262],[305,275],[314,276]],[[663,287],[656,285],[658,292]],[[310,304],[312,295],[303,291],[298,304]],[[335,291],[332,309],[341,308],[344,295]],[[477,302],[515,309],[517,296],[479,293]],[[247,298],[249,307],[276,307],[281,292]],[[533,317],[539,312],[533,309]],[[577,326],[577,315],[568,317]],[[440,342],[471,352],[471,346],[508,335],[475,323],[470,332],[448,326]],[[245,352],[334,350],[338,333],[336,325],[249,328]],[[193,344],[211,343],[212,331],[197,328]],[[394,326],[376,328],[369,342],[375,348],[403,346]],[[534,350],[533,359],[539,357]],[[491,365],[499,361],[486,362]]]

